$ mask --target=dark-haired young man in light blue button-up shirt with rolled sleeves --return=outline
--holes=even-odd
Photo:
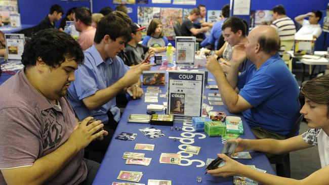
[[[122,89],[131,91],[133,99],[140,98],[141,70],[130,70],[116,56],[125,49],[125,42],[131,39],[130,29],[117,15],[103,18],[97,25],[94,45],[87,49],[85,63],[75,71],[75,81],[68,89],[69,101],[79,118],[92,116],[104,123],[109,132],[108,140],[96,141],[95,146],[106,151],[117,122],[120,110],[116,107],[115,96]],[[95,142],[94,142],[95,143]]]

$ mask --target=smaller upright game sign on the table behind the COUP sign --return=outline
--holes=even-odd
[[[176,36],[176,65],[193,66],[195,57],[195,37]]]

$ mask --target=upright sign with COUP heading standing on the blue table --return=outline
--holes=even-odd
[[[204,72],[168,72],[168,114],[177,116],[201,116]]]

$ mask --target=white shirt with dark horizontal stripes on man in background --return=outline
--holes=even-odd
[[[294,21],[289,17],[282,17],[272,22],[272,25],[279,33],[280,40],[294,40],[296,26]]]

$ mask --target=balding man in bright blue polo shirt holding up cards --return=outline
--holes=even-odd
[[[248,42],[234,47],[227,78],[214,57],[207,62],[228,110],[242,112],[257,138],[283,139],[299,117],[299,87],[279,49],[276,30],[259,26],[250,32]],[[238,75],[245,58],[253,64]]]

